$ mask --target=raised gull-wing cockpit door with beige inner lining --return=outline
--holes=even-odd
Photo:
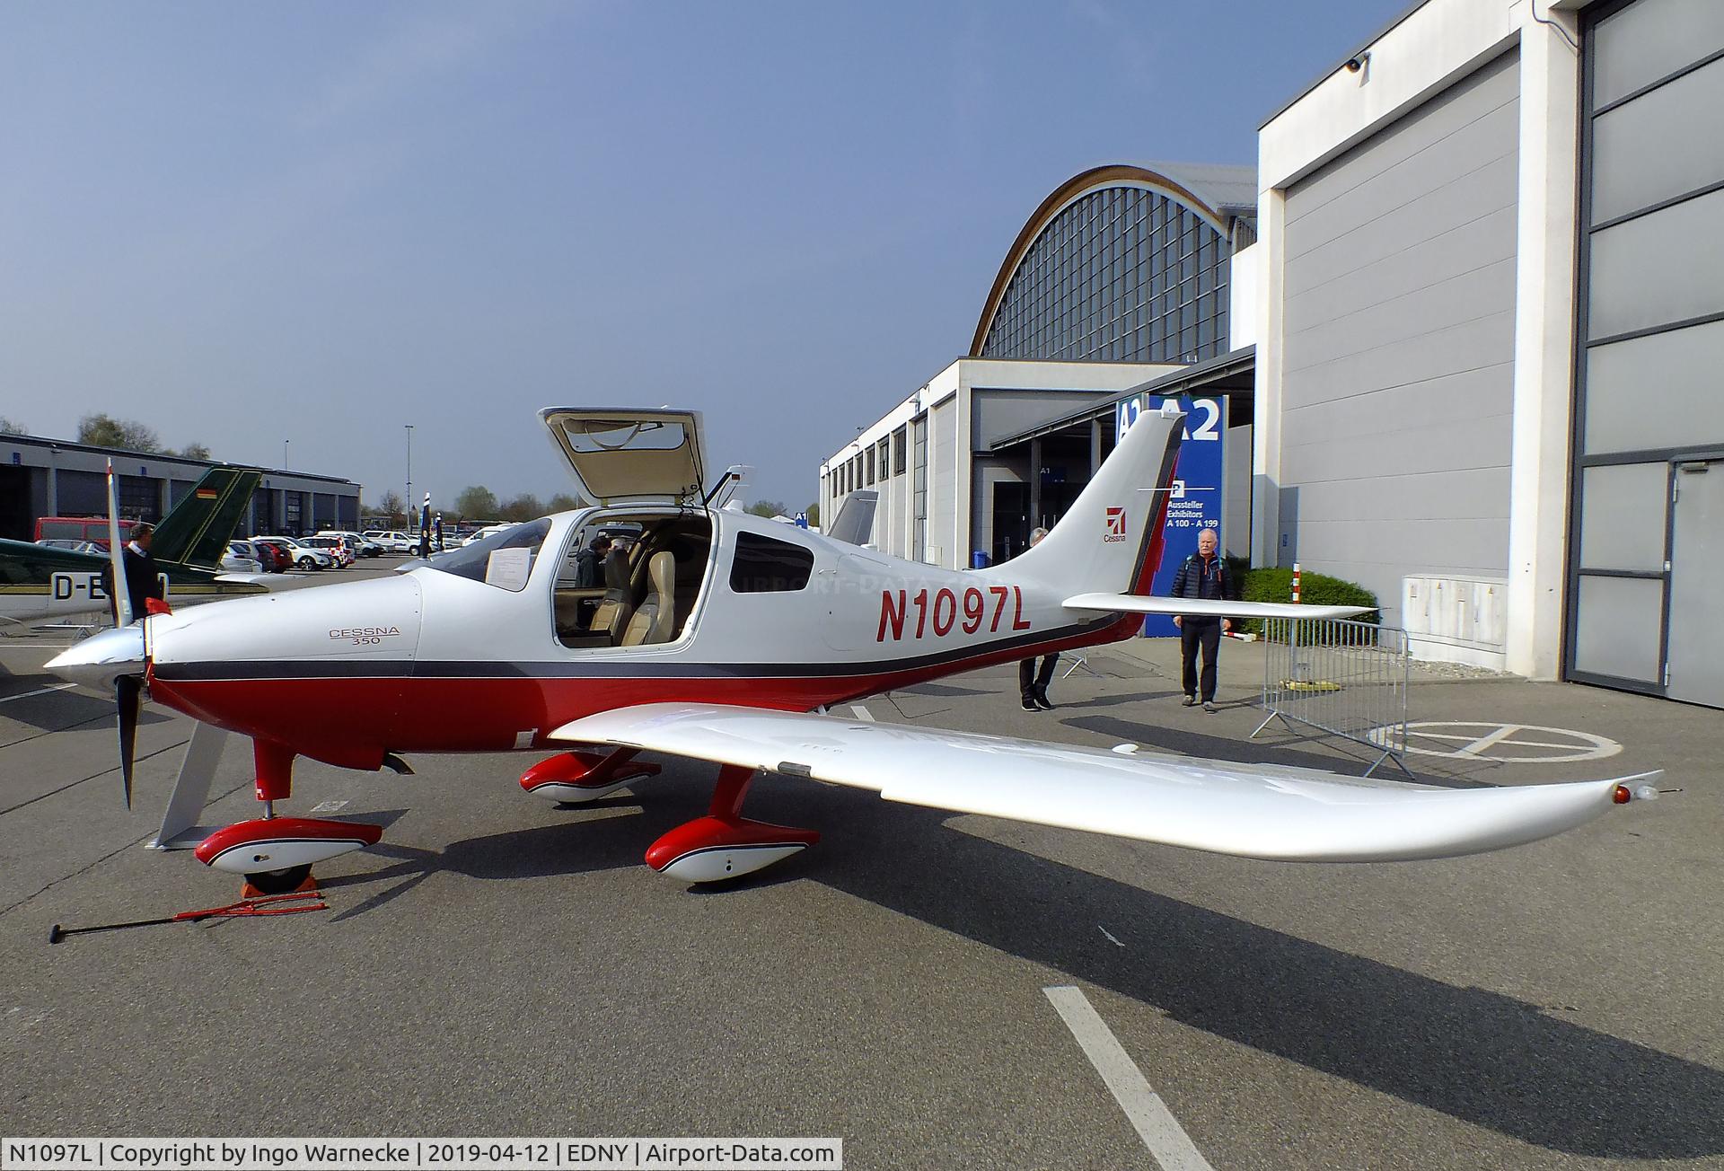
[[[700,504],[700,412],[547,407],[540,419],[590,500],[603,505]]]

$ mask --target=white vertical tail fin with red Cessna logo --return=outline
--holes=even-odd
[[[1010,562],[1071,592],[1148,593],[1184,414],[1143,412],[1046,536]]]

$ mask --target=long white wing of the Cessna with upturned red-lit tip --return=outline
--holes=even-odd
[[[869,788],[886,800],[1298,862],[1455,857],[1572,830],[1645,778],[1431,788],[1259,764],[714,704],[586,716],[552,740]]]

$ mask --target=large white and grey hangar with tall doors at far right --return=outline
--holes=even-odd
[[[1724,3],[1426,0],[1257,169],[1255,559],[1724,705]]]

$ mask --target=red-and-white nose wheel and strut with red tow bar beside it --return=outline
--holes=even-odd
[[[383,826],[321,817],[278,817],[276,802],[293,792],[293,752],[253,740],[257,798],[264,816],[217,830],[193,850],[205,866],[245,874],[250,895],[314,890],[312,864],[340,857],[383,838]]]

